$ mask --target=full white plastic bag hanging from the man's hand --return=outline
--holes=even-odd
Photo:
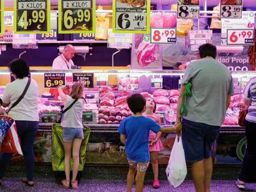
[[[176,135],[168,166],[166,167],[168,182],[175,188],[184,181],[187,175],[187,165],[181,137]]]

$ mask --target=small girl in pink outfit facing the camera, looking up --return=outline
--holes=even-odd
[[[156,103],[153,98],[148,98],[146,102],[146,111],[143,113],[143,116],[149,117],[153,121],[161,124],[160,116],[155,114],[156,111]],[[153,169],[154,180],[153,180],[153,188],[159,188],[160,183],[158,180],[158,151],[163,149],[163,144],[161,143],[160,137],[161,132],[154,133],[150,130],[149,136],[149,151],[150,151],[150,162]]]

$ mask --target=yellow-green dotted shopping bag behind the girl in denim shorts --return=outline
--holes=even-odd
[[[54,123],[52,126],[52,154],[51,154],[51,164],[53,166],[53,171],[64,171],[64,146],[63,146],[63,128],[60,123]],[[84,139],[80,146],[80,156],[79,156],[79,171],[83,171],[86,158],[87,144],[90,138],[90,128],[83,127]],[[73,159],[70,159],[70,170],[73,167]]]

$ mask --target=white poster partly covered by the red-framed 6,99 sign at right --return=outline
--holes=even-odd
[[[255,15],[252,11],[243,11],[241,19],[221,19],[221,44],[227,44],[228,29],[254,29]]]

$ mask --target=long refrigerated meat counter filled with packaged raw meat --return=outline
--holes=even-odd
[[[172,126],[176,119],[177,98],[180,80],[184,71],[181,70],[30,70],[31,77],[40,87],[41,97],[38,99],[40,130],[39,135],[46,148],[40,161],[50,161],[44,157],[51,153],[49,133],[61,109],[62,101],[58,97],[56,83],[49,81],[49,73],[64,73],[62,85],[70,84],[76,77],[83,77],[85,82],[85,99],[83,123],[91,128],[90,144],[101,143],[100,149],[88,148],[87,162],[92,163],[126,163],[124,147],[119,141],[117,128],[122,119],[131,115],[126,103],[126,96],[131,93],[142,93],[147,98],[153,96],[156,101],[156,112],[161,116],[163,127]],[[88,75],[90,74],[90,75]],[[243,107],[242,91],[255,72],[232,72],[234,94],[226,113],[221,134],[216,145],[215,162],[240,164],[244,154],[244,128],[237,125],[240,107]],[[0,97],[4,86],[11,81],[9,70],[0,70]],[[88,78],[91,77],[91,78]],[[60,78],[63,80],[63,78]],[[47,81],[48,80],[48,81]],[[77,79],[76,79],[77,80]],[[56,84],[56,85],[54,85]],[[47,136],[48,135],[48,136]],[[164,149],[159,152],[158,162],[168,164],[169,154],[173,148],[174,134],[163,134],[161,141]],[[37,142],[38,144],[38,142]]]

